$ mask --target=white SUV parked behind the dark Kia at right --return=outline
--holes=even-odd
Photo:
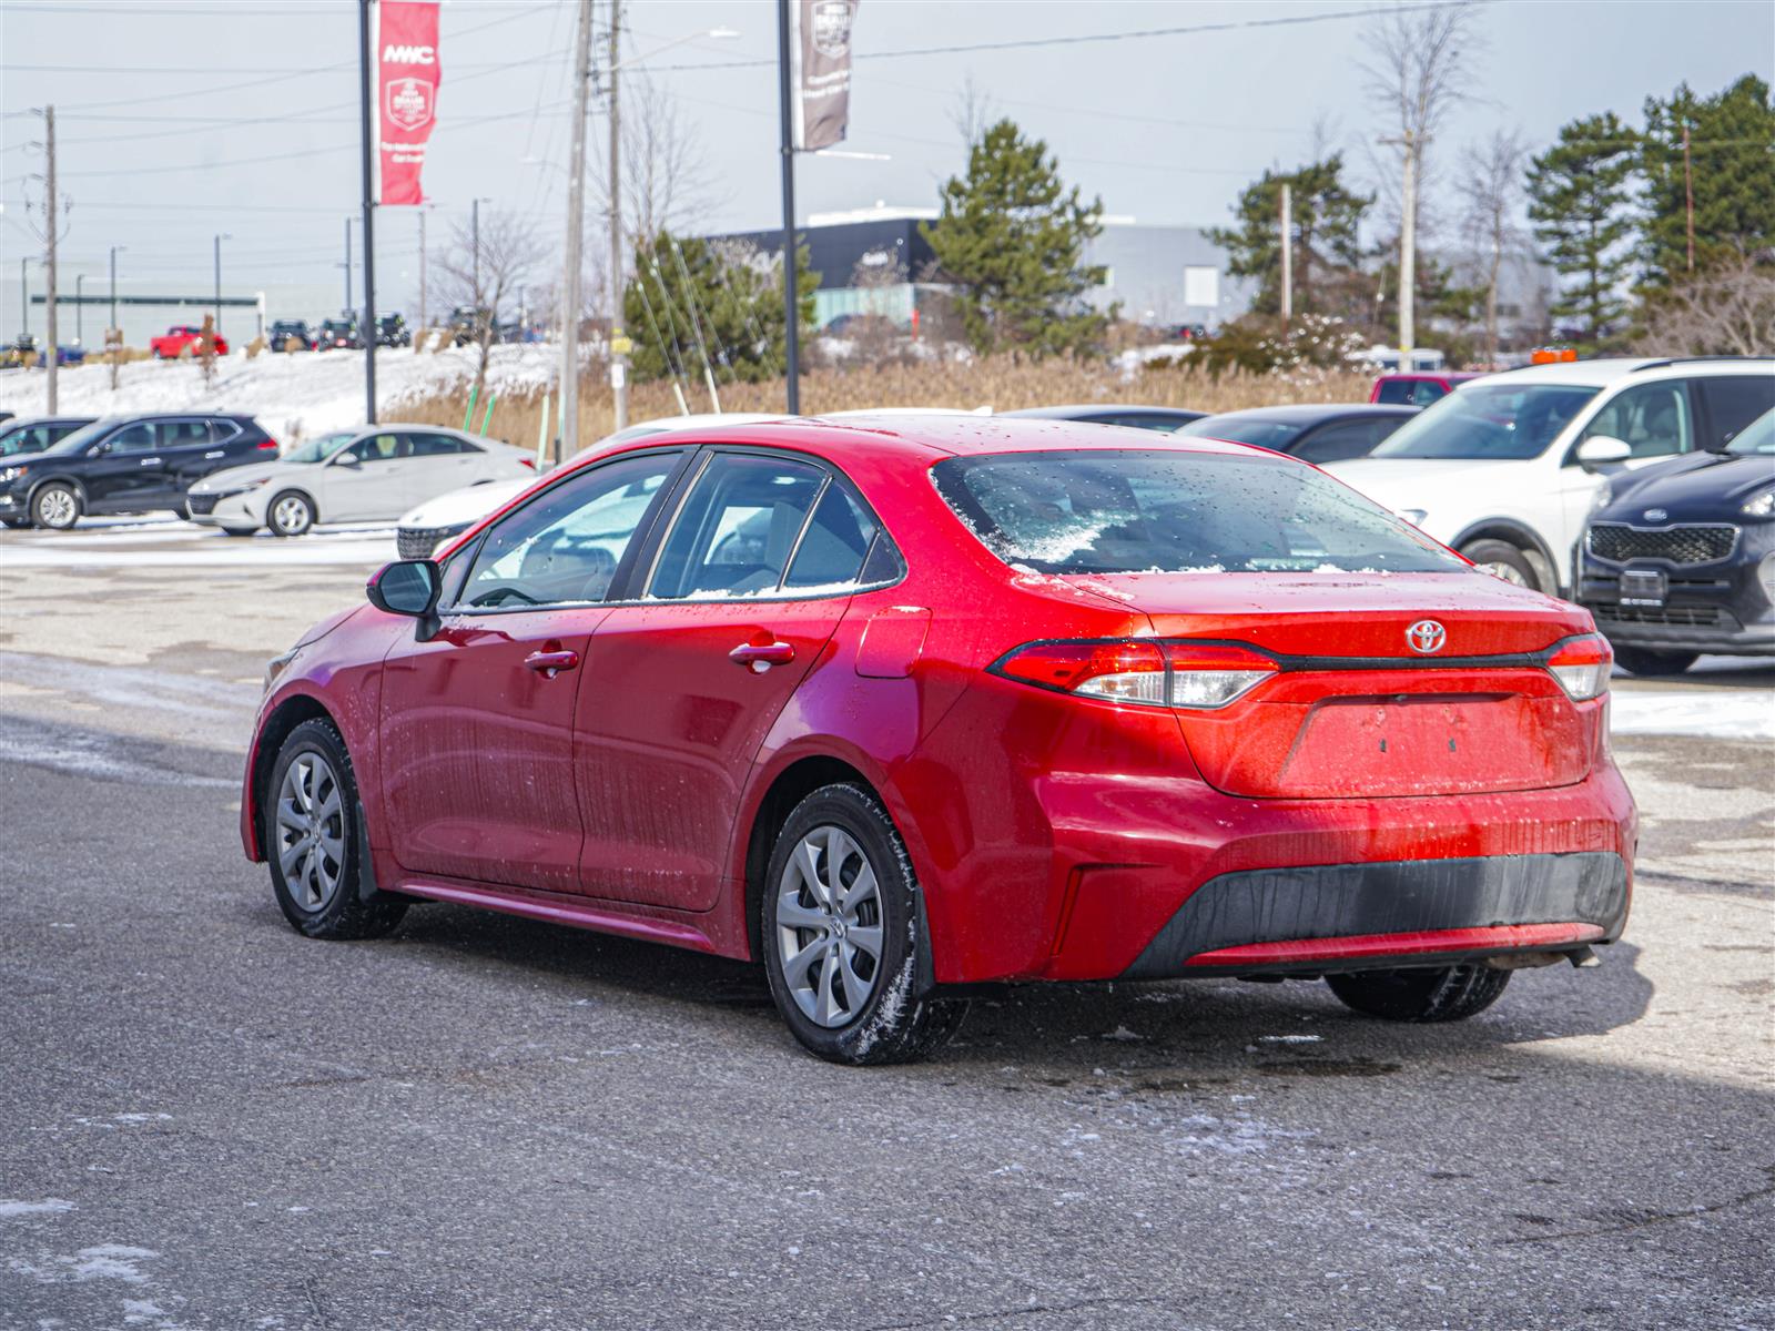
[[[1326,470],[1487,573],[1564,595],[1605,470],[1724,449],[1771,405],[1775,360],[1532,366],[1463,383]]]

